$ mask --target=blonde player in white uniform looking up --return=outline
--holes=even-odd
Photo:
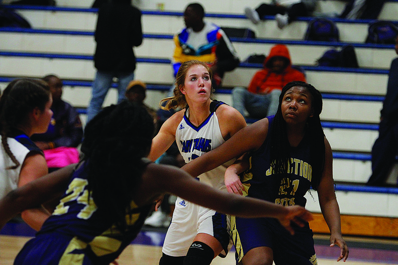
[[[246,126],[236,109],[210,99],[211,78],[205,63],[193,60],[181,65],[174,96],[163,99],[160,105],[167,110],[183,109],[162,125],[153,139],[149,159],[155,161],[176,141],[185,162],[190,163]],[[214,188],[225,188],[225,169],[226,166],[220,166],[199,179]],[[178,198],[159,264],[208,265],[219,254],[225,257],[229,242],[225,215]]]

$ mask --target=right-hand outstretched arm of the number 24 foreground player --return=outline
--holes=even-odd
[[[155,194],[156,192],[172,193],[218,212],[240,217],[277,218],[291,233],[294,232],[291,227],[292,222],[302,227],[306,222],[312,220],[312,214],[305,210],[304,207],[285,207],[265,200],[223,192],[195,180],[189,174],[176,167],[152,164],[148,166],[147,173],[149,175],[144,175],[143,185],[152,186],[152,191]],[[149,182],[147,181],[150,181],[151,184],[148,184]],[[145,196],[145,189],[140,189],[143,192],[141,196]],[[136,196],[139,198],[138,194]]]

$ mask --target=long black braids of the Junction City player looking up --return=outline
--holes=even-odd
[[[306,134],[308,134],[310,141],[310,159],[312,164],[312,179],[311,186],[316,189],[319,185],[320,176],[323,172],[325,162],[325,142],[322,125],[320,123],[320,113],[322,111],[322,95],[310,84],[294,81],[288,83],[282,88],[279,96],[278,111],[275,114],[274,121],[270,128],[271,136],[271,166],[274,169],[274,174],[281,175],[287,172],[290,162],[290,144],[287,135],[286,121],[282,115],[282,100],[286,91],[293,87],[305,88],[311,94],[311,107],[313,109],[313,116],[307,119]]]

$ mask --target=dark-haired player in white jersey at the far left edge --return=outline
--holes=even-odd
[[[47,131],[52,102],[50,88],[43,81],[15,79],[4,89],[0,98],[0,198],[48,173],[44,154],[30,137]],[[39,230],[53,210],[52,205],[46,207],[24,211],[21,217]]]

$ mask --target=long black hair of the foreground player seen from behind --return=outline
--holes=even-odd
[[[142,106],[124,100],[105,107],[85,128],[81,151],[88,163],[89,190],[110,222],[127,229],[134,187],[141,179],[154,134],[153,119]]]

